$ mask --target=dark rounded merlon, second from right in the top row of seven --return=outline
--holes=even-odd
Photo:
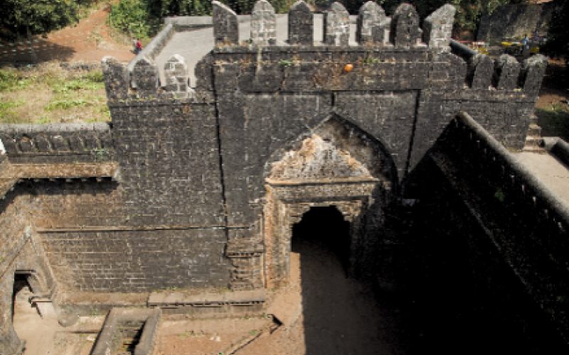
[[[410,4],[400,4],[391,17],[391,43],[395,47],[416,47],[421,39],[419,15]]]

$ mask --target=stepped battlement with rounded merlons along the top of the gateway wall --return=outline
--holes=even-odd
[[[535,99],[546,58],[536,55],[520,64],[502,55],[494,62],[450,38],[454,13],[454,7],[446,4],[427,16],[420,28],[410,4],[401,4],[387,17],[373,1],[363,4],[357,16],[334,3],[319,19],[302,0],[285,16],[277,16],[269,2],[260,0],[250,21],[245,21],[213,1],[209,54],[199,61],[179,54],[183,48],[172,46],[180,43],[167,43],[176,32],[176,26],[169,24],[148,46],[148,53],[128,67],[113,58],[103,59],[107,97],[109,102],[184,98],[211,102],[211,95],[204,97],[204,92],[237,86],[245,92],[485,90]],[[240,41],[243,33],[250,38]],[[191,38],[191,33],[186,36]],[[157,54],[164,48],[174,54],[167,59]],[[191,82],[192,69],[195,82]]]

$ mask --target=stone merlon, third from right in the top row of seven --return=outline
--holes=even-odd
[[[358,13],[356,40],[359,45],[382,45],[385,42],[385,11],[374,1],[361,6]]]

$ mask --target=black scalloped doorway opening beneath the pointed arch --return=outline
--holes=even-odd
[[[292,226],[291,251],[301,255],[302,263],[311,258],[327,257],[329,267],[348,274],[350,265],[350,223],[334,206],[311,207],[302,219]]]

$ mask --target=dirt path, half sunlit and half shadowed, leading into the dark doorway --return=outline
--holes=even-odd
[[[293,232],[290,284],[267,310],[282,326],[236,355],[411,354],[403,304],[378,300],[366,283],[346,278],[334,244],[344,238],[341,225],[313,218]]]

